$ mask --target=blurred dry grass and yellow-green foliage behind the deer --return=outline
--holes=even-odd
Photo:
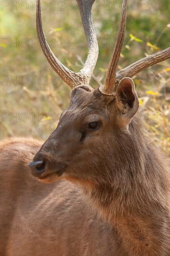
[[[121,0],[97,1],[92,13],[99,58],[93,88],[105,79],[118,32]],[[46,138],[67,108],[71,89],[55,74],[39,47],[35,0],[1,0],[1,140],[10,136]],[[169,47],[170,1],[129,0],[118,69]],[[88,52],[76,0],[42,1],[43,24],[52,51],[78,72]],[[163,61],[134,77],[139,114],[151,141],[168,154],[170,66]]]

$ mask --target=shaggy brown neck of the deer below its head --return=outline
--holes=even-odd
[[[134,145],[137,141],[134,138]],[[98,214],[117,230],[129,255],[168,255],[168,182],[157,151],[141,137],[138,147],[119,164],[113,161],[110,181],[84,192]],[[113,154],[114,155],[114,154]],[[128,156],[129,155],[129,156]],[[121,162],[121,163],[120,163]],[[108,182],[107,182],[108,181]]]

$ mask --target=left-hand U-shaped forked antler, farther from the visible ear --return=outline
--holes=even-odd
[[[88,42],[89,52],[84,67],[78,73],[75,73],[69,68],[65,67],[52,53],[43,30],[40,0],[37,0],[36,27],[40,46],[53,70],[71,88],[81,84],[89,84],[94,67],[96,66],[96,62],[98,60],[98,41],[92,22],[92,5],[94,1],[95,0],[77,0],[85,30],[85,36]]]

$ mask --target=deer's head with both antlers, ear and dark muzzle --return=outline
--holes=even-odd
[[[75,73],[52,53],[42,27],[40,0],[37,0],[37,34],[41,48],[54,71],[72,88],[70,105],[60,116],[57,128],[30,162],[32,175],[41,182],[55,182],[60,178],[89,186],[111,182],[110,173],[115,172],[116,177],[117,170],[123,169],[124,164],[127,166],[129,160],[137,161],[145,147],[135,115],[139,101],[131,78],[168,59],[170,48],[117,72],[126,25],[127,0],[123,0],[120,27],[105,82],[93,90],[89,82],[98,59],[91,12],[94,1],[77,0],[89,53],[84,67]],[[140,161],[136,164],[140,165]]]

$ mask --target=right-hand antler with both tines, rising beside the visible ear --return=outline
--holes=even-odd
[[[164,49],[163,51],[157,52],[150,56],[147,56],[139,61],[132,63],[130,66],[125,67],[124,69],[116,73],[118,66],[118,60],[121,53],[121,48],[123,45],[125,27],[126,27],[126,8],[127,0],[123,0],[122,4],[122,17],[121,23],[119,26],[118,36],[116,43],[113,49],[113,54],[111,56],[111,61],[107,70],[105,83],[101,85],[99,90],[101,93],[106,95],[114,95],[118,82],[124,77],[133,77],[135,74],[144,70],[147,67],[150,67],[158,62],[165,61],[170,58],[170,48]]]

